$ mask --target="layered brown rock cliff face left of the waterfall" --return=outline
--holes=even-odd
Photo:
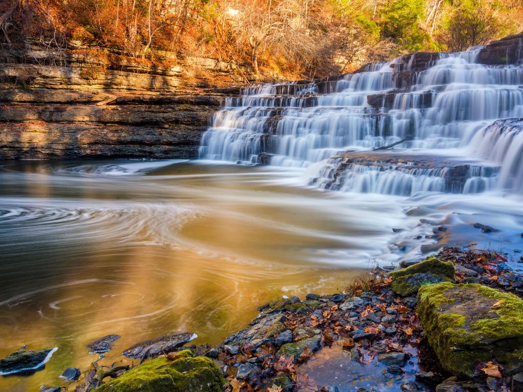
[[[194,158],[223,94],[237,93],[223,86],[241,82],[205,59],[152,69],[46,55],[0,60],[0,159]]]

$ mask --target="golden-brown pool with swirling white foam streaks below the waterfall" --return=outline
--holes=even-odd
[[[98,358],[86,344],[109,334],[121,339],[100,364],[167,333],[215,344],[276,296],[335,292],[360,272],[315,261],[350,250],[350,223],[274,174],[175,165],[109,177],[77,166],[0,172],[0,356],[59,348],[45,370],[1,377],[1,391],[64,385],[63,370],[86,371]]]

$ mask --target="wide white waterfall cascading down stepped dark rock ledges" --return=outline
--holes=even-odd
[[[215,115],[200,157],[315,164],[311,183],[356,192],[523,191],[523,59],[479,64],[482,49],[402,56],[337,80],[245,88]],[[366,153],[373,160],[365,163],[345,153],[400,141],[387,164],[381,157],[390,150]],[[465,169],[457,176],[444,158],[424,167],[415,156],[452,157]]]

